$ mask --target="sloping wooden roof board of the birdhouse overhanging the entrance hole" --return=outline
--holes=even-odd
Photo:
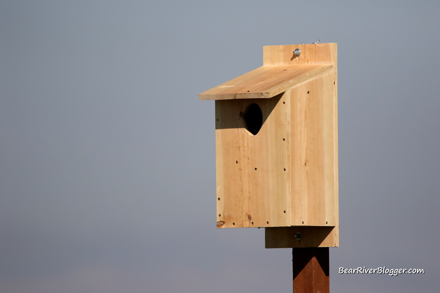
[[[198,96],[200,100],[272,98],[332,70],[332,64],[262,66]]]

